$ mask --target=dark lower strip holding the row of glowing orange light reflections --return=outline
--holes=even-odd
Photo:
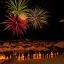
[[[8,60],[13,57],[21,60],[31,60],[31,59],[44,59],[44,58],[53,58],[59,55],[59,52],[53,53],[43,53],[43,52],[5,52],[0,53],[0,60]]]

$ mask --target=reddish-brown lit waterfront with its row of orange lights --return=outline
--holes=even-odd
[[[61,43],[60,45],[58,45]],[[11,59],[17,61],[31,61],[41,59],[53,59],[64,53],[64,41],[6,41],[0,43],[0,62]]]

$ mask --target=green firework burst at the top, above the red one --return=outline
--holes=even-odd
[[[27,7],[28,0],[10,0],[7,4],[8,11],[10,14],[20,15],[23,12],[28,11]]]

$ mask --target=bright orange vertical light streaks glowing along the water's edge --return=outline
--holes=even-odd
[[[53,58],[53,57],[56,57],[57,55],[59,55],[59,53],[55,53],[53,54],[53,52],[51,52],[51,54],[41,54],[40,52],[39,53],[34,53],[34,54],[13,54],[15,58],[17,58],[19,61],[21,60],[31,60],[31,59],[44,59],[44,58]],[[10,56],[6,56],[4,54],[0,54],[0,60],[8,60],[8,59],[11,59],[12,58],[12,55]]]

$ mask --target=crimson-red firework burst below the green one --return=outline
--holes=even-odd
[[[26,31],[27,27],[27,20],[23,20],[19,18],[19,16],[8,16],[8,19],[3,22],[5,24],[4,30],[11,30],[13,32],[13,35],[23,35],[23,32]]]

